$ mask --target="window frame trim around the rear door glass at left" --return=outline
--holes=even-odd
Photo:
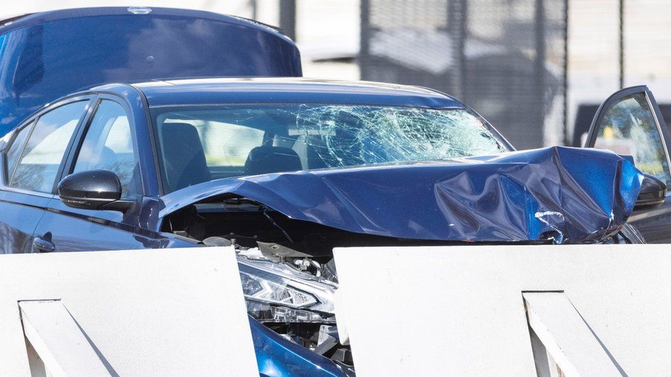
[[[79,94],[79,95],[73,95],[71,97],[63,98],[63,100],[59,100],[58,102],[54,102],[53,104],[47,104],[47,106],[41,108],[39,111],[37,111],[36,113],[34,113],[30,117],[28,117],[28,119],[23,121],[23,123],[21,125],[19,125],[19,126],[17,126],[17,128],[15,128],[15,130],[12,130],[12,132],[15,132],[19,128],[32,127],[32,129],[30,130],[30,134],[26,138],[25,143],[23,144],[23,146],[21,146],[21,155],[19,155],[19,162],[20,162],[21,157],[23,157],[23,152],[25,152],[25,146],[26,146],[26,144],[28,144],[28,140],[30,139],[30,137],[32,136],[32,133],[34,131],[34,126],[37,124],[37,122],[39,122],[39,119],[43,115],[45,115],[46,113],[49,113],[52,110],[55,110],[58,107],[65,106],[67,104],[72,104],[74,102],[87,102],[87,104],[85,104],[85,106],[84,106],[83,116],[80,117],[79,122],[76,124],[74,132],[72,133],[72,136],[70,137],[70,140],[69,140],[67,146],[65,147],[65,153],[63,154],[63,157],[61,158],[60,165],[58,165],[58,171],[56,172],[56,179],[54,181],[54,186],[52,187],[52,192],[50,192],[50,193],[39,192],[39,191],[26,190],[26,189],[23,189],[23,188],[20,188],[20,187],[11,186],[10,183],[12,182],[12,178],[14,178],[14,173],[16,172],[16,169],[17,169],[19,163],[17,163],[17,166],[14,167],[14,171],[12,172],[12,174],[6,174],[4,176],[5,181],[1,182],[1,185],[2,185],[1,189],[5,190],[5,191],[10,191],[10,192],[17,192],[19,194],[41,196],[43,198],[53,198],[54,195],[56,195],[56,187],[58,187],[58,183],[61,181],[61,172],[63,171],[63,166],[65,165],[65,161],[67,159],[68,150],[69,150],[70,146],[72,146],[72,142],[74,141],[74,135],[76,135],[78,133],[78,129],[82,126],[83,121],[85,121],[85,119],[87,119],[87,117],[89,117],[89,113],[91,111],[91,99],[94,98],[94,97],[95,97],[95,95],[91,95],[91,94],[84,94],[84,95]],[[32,126],[31,126],[31,124],[32,124]],[[18,132],[16,133],[16,135],[18,135]],[[14,139],[16,139],[16,135],[12,135],[12,141],[8,145],[8,148],[12,147],[12,144],[14,143]],[[4,172],[8,172],[7,171],[6,159],[5,159],[3,169],[4,169]]]

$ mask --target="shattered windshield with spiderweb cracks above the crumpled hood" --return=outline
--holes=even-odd
[[[232,176],[492,155],[463,108],[340,104],[153,108],[164,190]]]

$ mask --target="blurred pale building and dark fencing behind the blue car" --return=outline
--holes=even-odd
[[[5,15],[117,1],[24,0]],[[278,25],[304,75],[431,87],[518,148],[580,145],[597,106],[648,84],[671,121],[668,0],[146,0]]]

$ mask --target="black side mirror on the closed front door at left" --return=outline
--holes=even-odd
[[[70,174],[58,183],[58,196],[72,208],[129,212],[136,201],[121,199],[119,177],[109,170],[86,170]]]

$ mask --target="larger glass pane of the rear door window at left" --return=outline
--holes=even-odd
[[[42,115],[25,144],[10,186],[51,193],[67,145],[88,101],[74,102]]]

